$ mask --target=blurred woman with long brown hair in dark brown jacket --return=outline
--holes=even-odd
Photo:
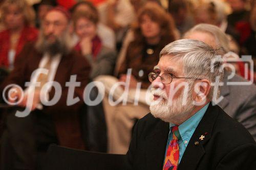
[[[127,69],[132,68],[130,88],[135,88],[137,81],[142,82],[142,88],[147,88],[150,85],[147,75],[157,64],[160,51],[175,41],[174,21],[160,6],[148,3],[139,11],[138,22],[132,31],[134,41],[127,47],[119,80],[125,82]]]

